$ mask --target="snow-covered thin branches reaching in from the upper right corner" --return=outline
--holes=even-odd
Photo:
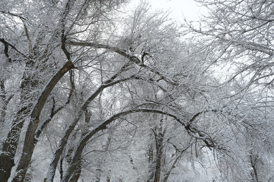
[[[199,28],[188,24],[201,41],[205,59],[231,74],[227,81],[245,77],[266,88],[272,84],[273,3],[271,1],[198,1],[209,12]],[[208,43],[206,43],[208,42]],[[231,69],[230,69],[231,68]],[[224,75],[226,76],[226,75]]]

